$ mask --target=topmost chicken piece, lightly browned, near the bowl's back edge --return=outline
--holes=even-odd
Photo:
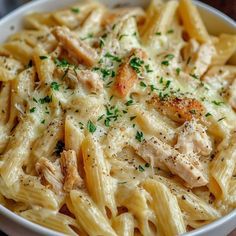
[[[136,17],[138,23],[143,22],[145,20],[145,12],[140,7],[109,9],[109,11],[104,14],[102,25],[112,25],[118,20],[125,20],[130,17]]]

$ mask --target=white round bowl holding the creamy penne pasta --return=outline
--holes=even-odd
[[[100,0],[107,5],[115,4],[130,4],[130,5],[145,5],[146,0]],[[11,34],[19,31],[22,28],[22,17],[32,11],[51,11],[66,5],[77,2],[76,0],[38,0],[28,3],[0,20],[0,43],[4,42]],[[112,2],[112,3],[111,3]],[[196,1],[203,20],[208,31],[217,35],[222,32],[236,34],[236,23],[220,11],[200,2]],[[235,58],[236,59],[236,58]],[[235,60],[234,59],[234,60]],[[230,214],[220,218],[219,220],[208,224],[200,229],[186,233],[185,236],[225,236],[236,228],[236,210]],[[49,230],[37,224],[34,224],[24,218],[14,214],[5,207],[0,205],[0,229],[8,235],[14,236],[39,236],[51,235],[61,236],[63,234]]]

